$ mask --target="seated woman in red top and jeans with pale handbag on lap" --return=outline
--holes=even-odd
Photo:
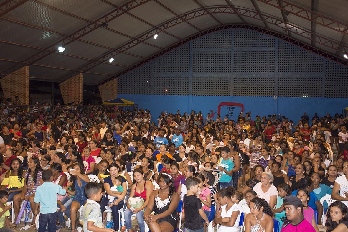
[[[154,186],[150,180],[145,179],[144,172],[140,168],[134,170],[133,179],[135,180],[135,185],[133,184],[132,188],[130,189],[129,199],[140,196],[142,199],[144,199],[144,204],[141,207],[134,209],[129,205],[128,201],[127,209],[125,210],[125,226],[126,230],[128,230],[129,232],[133,232],[131,216],[135,214],[136,221],[138,222],[140,227],[140,231],[145,231],[143,209],[148,205],[149,197],[152,191],[154,190]]]

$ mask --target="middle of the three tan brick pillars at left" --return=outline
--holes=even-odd
[[[69,102],[78,103],[82,101],[82,74],[71,77],[59,84],[64,104]]]

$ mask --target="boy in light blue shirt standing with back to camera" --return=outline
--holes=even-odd
[[[44,183],[37,187],[34,197],[34,214],[38,215],[40,203],[39,232],[45,232],[48,224],[48,231],[56,231],[57,224],[57,193],[65,195],[62,186],[53,184],[52,170],[42,171]]]

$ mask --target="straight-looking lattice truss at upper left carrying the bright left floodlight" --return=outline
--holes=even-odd
[[[85,36],[86,34],[94,31],[95,29],[100,28],[102,26],[102,24],[108,23],[111,20],[114,20],[115,18],[119,17],[120,15],[128,12],[129,10],[132,10],[138,6],[141,6],[142,4],[149,2],[149,1],[151,1],[151,0],[131,0],[131,1],[123,4],[122,6],[112,10],[108,14],[103,15],[102,17],[98,18],[94,22],[89,23],[88,25],[84,26],[83,28],[81,28],[81,29],[71,33],[70,35],[64,37],[63,39],[58,40],[54,44],[52,44],[44,49],[41,49],[41,51],[28,57],[27,59],[15,64],[13,67],[6,69],[5,71],[3,71],[3,73],[5,73],[5,75],[8,75],[11,72],[17,70],[18,68],[23,67],[23,65],[26,63],[29,63],[29,64],[35,63],[35,62],[41,60],[42,58],[48,56],[49,54],[52,54],[53,52],[55,52],[59,46],[63,46],[63,47],[66,46],[66,45],[70,44],[71,42],[73,42],[77,39],[80,39],[81,37]]]

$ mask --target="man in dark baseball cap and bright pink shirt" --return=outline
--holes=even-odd
[[[303,204],[297,196],[284,197],[285,220],[280,232],[315,232],[312,224],[303,217]]]

